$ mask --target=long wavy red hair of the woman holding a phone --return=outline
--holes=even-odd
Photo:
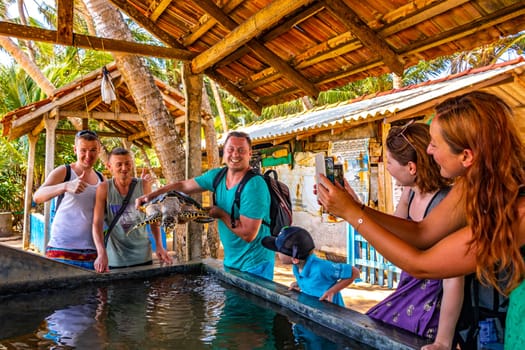
[[[456,185],[464,193],[477,276],[509,293],[525,274],[516,231],[525,152],[512,110],[499,97],[475,91],[444,101],[436,112],[452,152],[469,149],[474,155]]]

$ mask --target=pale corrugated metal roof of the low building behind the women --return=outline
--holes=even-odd
[[[466,88],[479,85],[514,70],[519,74],[525,68],[525,60],[519,58],[503,64],[482,69],[473,69],[443,79],[370,95],[338,105],[317,108],[292,116],[275,118],[248,125],[237,131],[244,131],[252,140],[264,141],[282,138],[287,135],[336,127],[345,123],[360,124],[377,117],[390,117],[415,106],[427,104],[436,99],[443,99]],[[522,105],[524,101],[521,101]],[[224,138],[223,138],[224,139]],[[259,142],[260,143],[260,142]]]

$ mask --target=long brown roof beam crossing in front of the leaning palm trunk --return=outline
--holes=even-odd
[[[62,43],[57,42],[57,32],[54,30],[23,26],[20,24],[5,21],[0,21],[0,35],[63,45]],[[189,61],[195,56],[194,53],[188,50],[139,44],[131,41],[106,39],[74,33],[73,43],[69,46],[98,51],[126,53],[139,56],[177,59],[181,61]]]

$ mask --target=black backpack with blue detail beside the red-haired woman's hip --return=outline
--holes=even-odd
[[[463,307],[456,326],[456,340],[462,350],[478,349],[478,338],[503,343],[508,297],[493,286],[485,286],[476,274],[465,276]],[[489,332],[491,334],[487,334]]]

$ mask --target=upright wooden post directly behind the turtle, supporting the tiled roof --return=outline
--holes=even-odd
[[[186,178],[190,179],[202,173],[201,150],[201,103],[203,75],[193,74],[189,63],[183,66],[184,92],[186,98]],[[202,203],[202,195],[192,196]],[[186,260],[202,256],[202,224],[190,222],[186,231]],[[180,252],[180,248],[177,248]]]

